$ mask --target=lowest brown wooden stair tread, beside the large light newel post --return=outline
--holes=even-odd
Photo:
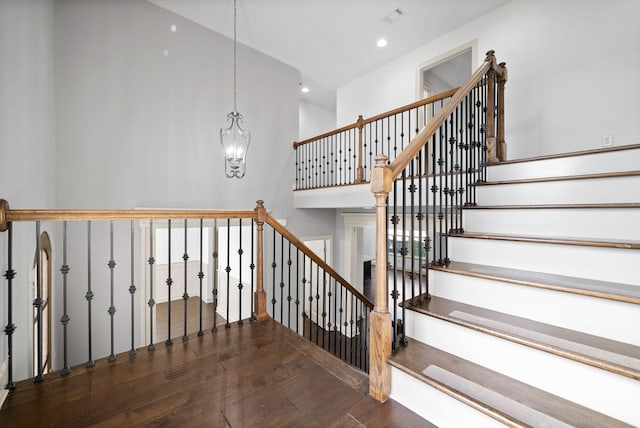
[[[629,426],[416,340],[389,363],[511,426]]]

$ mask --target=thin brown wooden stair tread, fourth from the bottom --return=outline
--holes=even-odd
[[[640,241],[608,240],[600,238],[575,238],[561,236],[526,236],[510,233],[486,233],[464,231],[463,233],[449,233],[455,238],[492,239],[498,241],[535,242],[542,244],[579,245],[586,247],[621,248],[628,250],[640,249]]]

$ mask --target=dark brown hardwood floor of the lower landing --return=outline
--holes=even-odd
[[[19,382],[2,427],[431,427],[368,378],[274,321],[222,325],[91,369]]]

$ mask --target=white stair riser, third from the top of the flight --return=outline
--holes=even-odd
[[[465,230],[640,241],[640,209],[469,209]]]

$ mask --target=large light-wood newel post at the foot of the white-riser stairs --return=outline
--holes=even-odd
[[[371,171],[371,192],[376,198],[375,301],[369,330],[369,395],[384,402],[391,394],[391,314],[387,304],[387,197],[391,192],[391,168],[387,157],[376,157]]]

